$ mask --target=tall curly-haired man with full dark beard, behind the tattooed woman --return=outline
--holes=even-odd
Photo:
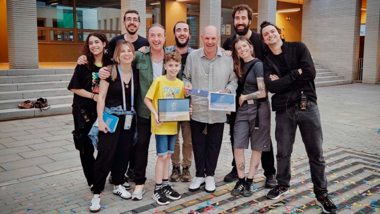
[[[225,49],[226,51],[227,50],[230,51],[233,41],[239,36],[244,36],[247,39],[249,39],[249,41],[251,41],[256,58],[263,61],[267,54],[268,46],[262,42],[260,38],[260,34],[249,30],[249,26],[252,21],[252,15],[253,15],[253,11],[248,5],[239,4],[239,5],[234,6],[232,17],[234,18],[234,29],[236,31],[236,34],[231,36],[224,42],[223,49]],[[238,98],[240,97],[240,95],[237,94],[236,97],[237,97],[236,107],[238,109],[239,107]],[[232,160],[232,166],[233,166],[232,171],[224,177],[224,181],[231,182],[238,178],[238,170],[237,170],[235,155],[234,155],[234,124],[235,124],[235,119],[236,119],[236,112],[231,112],[231,114],[228,116],[228,119],[230,122],[230,136],[231,136],[230,139],[231,139],[231,147],[233,150],[232,154],[234,156],[234,159]],[[277,184],[276,168],[274,166],[275,158],[273,155],[272,140],[271,140],[270,147],[271,147],[271,150],[269,152],[263,152],[261,155],[261,165],[264,169],[264,175],[266,177],[266,182],[265,182],[266,188],[272,188]]]

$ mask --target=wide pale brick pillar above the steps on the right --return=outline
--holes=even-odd
[[[344,79],[356,80],[362,0],[303,2],[302,42],[314,60]]]

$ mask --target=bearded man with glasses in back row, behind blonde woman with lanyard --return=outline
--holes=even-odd
[[[140,15],[139,12],[136,10],[127,10],[124,13],[124,19],[122,21],[122,24],[125,26],[125,29],[127,30],[127,33],[122,34],[120,36],[116,36],[112,38],[112,40],[109,42],[109,54],[113,56],[113,52],[115,51],[116,44],[119,40],[125,40],[129,41],[133,44],[135,47],[135,51],[139,50],[141,47],[149,46],[149,42],[147,39],[141,37],[137,34],[137,31],[139,30],[141,26],[140,22]],[[105,50],[106,51],[106,50]],[[106,54],[106,53],[105,53]],[[78,64],[87,64],[87,57],[86,55],[81,55],[78,58]],[[131,157],[130,157],[130,163],[129,168],[127,172],[128,179],[132,182],[134,182],[134,165],[135,165],[135,158],[134,155],[136,154],[135,147],[132,147]],[[128,163],[127,163],[128,164]],[[123,186],[126,190],[130,190],[131,186],[128,183],[127,178],[124,179],[125,183]],[[109,177],[108,182],[110,184],[113,184],[112,175]]]

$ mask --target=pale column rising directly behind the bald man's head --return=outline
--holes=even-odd
[[[219,36],[220,36],[221,17],[222,17],[222,0],[200,0],[199,35],[202,35],[203,29],[205,27],[209,25],[213,25],[218,29]],[[231,26],[231,28],[232,27],[233,26]],[[200,41],[200,48],[202,48],[203,42],[200,39],[200,36],[199,36],[199,41]]]

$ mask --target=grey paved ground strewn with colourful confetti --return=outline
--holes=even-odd
[[[351,84],[317,88],[324,131],[329,190],[341,214],[380,213],[380,85]],[[272,135],[274,136],[274,113]],[[0,122],[0,213],[89,213],[92,198],[75,150],[71,115]],[[290,194],[269,201],[262,171],[252,197],[232,197],[234,183],[223,177],[232,161],[228,125],[216,170],[217,192],[188,192],[189,183],[173,183],[183,198],[158,206],[154,189],[155,142],[151,140],[147,192],[142,201],[121,200],[106,184],[101,214],[253,214],[321,213],[314,204],[309,165],[299,133],[293,147]],[[276,148],[276,141],[274,147]],[[276,149],[275,149],[276,151]],[[246,151],[246,157],[250,155]],[[260,167],[259,167],[260,168]],[[195,165],[191,166],[195,174]],[[132,183],[132,188],[134,184]]]

